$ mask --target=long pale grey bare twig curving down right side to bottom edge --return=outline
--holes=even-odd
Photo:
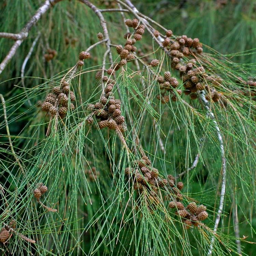
[[[214,114],[212,113],[211,108],[209,107],[208,100],[205,99],[205,92],[201,91],[201,93],[199,95],[200,95],[200,99],[204,103],[205,108],[208,110],[208,113],[207,113],[208,116],[213,120],[213,123],[215,125],[215,129],[216,129],[218,140],[219,140],[219,146],[221,148],[221,155],[222,155],[221,197],[220,197],[220,200],[219,200],[219,209],[218,209],[218,213],[217,213],[217,217],[215,219],[215,224],[214,224],[214,229],[213,229],[213,231],[216,232],[216,230],[218,228],[218,225],[219,225],[219,221],[221,219],[221,214],[222,214],[222,211],[223,211],[224,197],[225,197],[225,191],[226,191],[226,157],[225,157],[225,150],[224,150],[221,130],[219,129],[218,124],[215,120]],[[208,251],[208,256],[212,255],[214,241],[215,241],[215,236],[213,236],[212,239],[211,239],[211,244],[210,244],[210,248],[209,248],[209,251]]]

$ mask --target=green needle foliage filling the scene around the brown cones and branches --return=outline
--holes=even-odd
[[[42,2],[1,1],[0,31],[19,32]],[[206,58],[218,60],[213,64],[214,68],[209,69],[222,76],[228,88],[222,88],[222,93],[229,95],[231,90],[243,89],[235,77],[248,80],[248,76],[255,75],[256,71],[255,2],[227,1],[225,5],[217,1],[183,2],[166,1],[161,6],[159,1],[134,1],[134,5],[140,12],[172,29],[175,35],[187,34],[200,39],[205,44],[204,51],[212,54]],[[94,3],[102,9],[109,8],[106,2]],[[126,29],[120,14],[104,13],[104,17],[112,43],[124,44]],[[25,93],[20,70],[38,32],[40,39],[25,69]],[[0,254],[207,255],[211,233],[196,229],[185,232],[167,208],[167,199],[163,199],[169,211],[167,214],[163,209],[151,214],[145,205],[139,211],[135,210],[136,196],[129,192],[130,184],[124,177],[124,169],[137,156],[126,152],[114,132],[99,130],[97,126],[90,128],[85,122],[89,114],[86,105],[96,102],[101,95],[101,84],[94,76],[100,69],[105,46],[91,51],[93,57],[85,62],[81,73],[72,81],[76,109],[68,113],[64,124],[59,121],[56,128],[56,123],[40,110],[40,101],[75,65],[79,52],[98,41],[98,32],[101,32],[99,20],[89,8],[74,0],[60,2],[32,28],[28,39],[0,75],[0,93],[6,100],[12,141],[26,169],[24,177],[14,162],[1,105],[0,182],[5,188],[0,198],[1,223],[15,218],[19,232],[37,241],[32,245],[13,236],[7,245],[0,244]],[[69,38],[69,44],[66,44],[66,38]],[[10,39],[0,39],[1,60],[12,43]],[[169,70],[168,58],[150,37],[136,46],[144,54],[154,52],[151,59],[153,56],[160,59],[163,69]],[[57,56],[50,62],[44,60],[47,48],[57,51]],[[118,55],[113,52],[115,59]],[[199,150],[200,138],[205,138],[199,164],[184,176],[183,182],[188,201],[193,198],[207,205],[210,216],[204,223],[213,228],[221,170],[213,122],[200,103],[191,103],[188,97],[184,99],[193,105],[193,111],[181,101],[161,105],[156,99],[159,91],[155,77],[144,68],[140,75],[131,79],[133,70],[129,64],[124,73],[118,73],[122,112],[128,111],[141,147],[162,176],[177,175],[188,168]],[[175,72],[172,74],[177,76]],[[117,92],[115,96],[118,97]],[[240,237],[248,236],[246,241],[256,241],[256,104],[253,97],[235,97],[239,101],[232,99],[232,104],[237,111],[224,112],[218,104],[213,106],[225,137],[228,159],[224,215],[218,230],[221,243],[215,243],[213,255],[236,255],[234,209],[237,209]],[[134,145],[131,127],[128,125],[125,133],[130,148]],[[50,133],[46,137],[48,129]],[[160,150],[159,137],[166,154]],[[91,181],[84,169],[94,166],[99,175],[96,181]],[[34,200],[32,191],[39,182],[48,186],[44,204],[56,208],[57,213],[46,212]],[[6,212],[7,216],[4,215]],[[164,220],[166,215],[169,221]],[[254,244],[242,241],[243,255],[254,255],[254,252]]]

